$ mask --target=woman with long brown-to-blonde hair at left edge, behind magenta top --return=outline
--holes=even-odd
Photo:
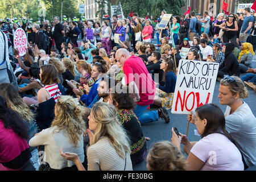
[[[19,96],[18,90],[13,86],[13,84],[3,83],[0,85],[0,96],[5,97],[7,106],[16,111],[23,122],[26,123],[28,130],[27,142],[38,133],[38,129],[35,124],[35,114],[32,113],[30,108],[26,103],[23,102],[22,98]]]

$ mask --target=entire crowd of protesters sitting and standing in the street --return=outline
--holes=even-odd
[[[0,170],[22,170],[32,150],[41,171],[131,171],[143,160],[155,171],[255,166],[256,118],[243,98],[250,97],[247,89],[256,92],[256,16],[244,12],[172,15],[164,28],[165,11],[155,26],[137,13],[101,23],[1,19]],[[14,47],[17,28],[27,36],[23,56]],[[201,105],[187,115],[201,140],[172,129],[170,141],[148,150],[143,123],[171,122],[182,59],[218,63],[218,98],[226,111]],[[158,109],[146,111],[151,105]]]

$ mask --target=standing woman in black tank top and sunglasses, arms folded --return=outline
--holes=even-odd
[[[220,25],[220,28],[225,30],[223,35],[223,42],[228,43],[229,41],[236,40],[238,25],[236,21],[236,16],[231,13],[228,16],[228,20]]]

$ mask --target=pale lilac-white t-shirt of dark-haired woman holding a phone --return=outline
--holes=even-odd
[[[207,135],[190,152],[205,163],[201,171],[243,171],[240,151],[222,134]]]

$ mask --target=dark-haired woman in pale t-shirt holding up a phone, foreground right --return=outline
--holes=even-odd
[[[187,136],[181,133],[177,136],[172,128],[172,143],[179,152],[180,144],[184,144],[184,152],[188,155],[186,170],[243,171],[241,152],[226,131],[225,117],[220,107],[214,104],[197,107],[196,114],[191,118],[193,119],[189,119],[189,122],[196,125],[201,136],[198,142],[189,142]],[[218,162],[213,164],[212,155],[217,156]]]

